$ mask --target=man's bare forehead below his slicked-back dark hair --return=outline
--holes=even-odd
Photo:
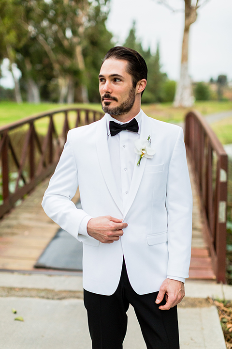
[[[102,64],[100,74],[103,76],[109,76],[109,75],[121,75],[123,77],[131,76],[127,72],[127,64],[128,62],[125,60],[117,60],[114,58],[108,58],[105,60],[105,62]]]

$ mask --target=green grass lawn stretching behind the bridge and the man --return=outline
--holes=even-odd
[[[55,109],[62,109],[66,107],[87,108],[102,111],[101,104],[30,104],[22,103],[16,104],[14,102],[0,102],[0,126],[10,124],[25,117],[41,113],[43,111],[50,111]],[[142,109],[148,116],[158,120],[179,123],[184,121],[184,117],[189,110],[195,109],[203,115],[232,110],[232,101],[197,101],[192,108],[174,108],[172,103],[157,103],[157,104],[143,104]],[[63,116],[58,114],[57,128],[58,131],[62,127]],[[71,114],[71,127],[74,127],[75,115]],[[38,129],[42,134],[46,133],[48,125],[48,118],[37,121]],[[232,143],[232,120],[231,118],[219,121],[212,124],[212,128],[216,132],[218,138],[222,143]]]

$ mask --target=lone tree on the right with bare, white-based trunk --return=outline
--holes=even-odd
[[[177,83],[177,88],[174,97],[175,107],[191,107],[193,104],[191,79],[188,74],[188,43],[189,43],[189,29],[190,25],[197,19],[197,10],[200,6],[205,4],[208,0],[184,0],[185,2],[185,25],[182,41],[181,53],[181,68],[180,79]],[[168,0],[160,0],[160,3],[166,5],[172,11],[174,10]]]

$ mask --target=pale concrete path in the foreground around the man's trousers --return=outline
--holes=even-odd
[[[20,290],[24,290],[24,297],[20,297]],[[63,297],[64,291],[64,299],[47,299],[54,294]],[[91,349],[83,300],[71,298],[73,293],[82,298],[81,275],[0,272],[0,349]],[[180,348],[226,349],[217,309],[203,298],[226,296],[231,300],[232,286],[187,281],[186,296],[178,307]],[[12,308],[17,310],[16,315]],[[16,316],[23,317],[24,322],[14,321]],[[145,349],[132,307],[128,318],[123,348]]]

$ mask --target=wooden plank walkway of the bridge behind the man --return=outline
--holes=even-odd
[[[203,223],[192,169],[193,236],[189,277],[214,280],[209,250],[203,238]],[[46,179],[23,202],[0,221],[0,270],[38,271],[34,265],[58,231],[58,225],[43,212],[41,201],[48,186]],[[73,202],[79,199],[77,191]],[[65,273],[65,272],[64,272]]]

